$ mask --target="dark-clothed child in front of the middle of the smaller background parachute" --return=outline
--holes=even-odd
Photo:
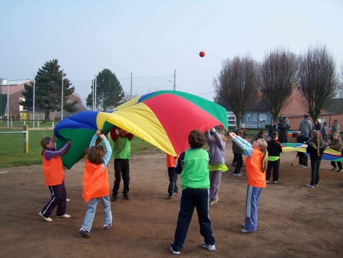
[[[318,187],[320,161],[322,161],[322,155],[327,147],[324,141],[318,138],[318,131],[312,131],[311,136],[312,139],[306,148],[306,152],[309,153],[309,159],[311,160],[311,183],[306,185],[306,187],[314,188]]]

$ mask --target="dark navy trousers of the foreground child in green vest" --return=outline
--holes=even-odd
[[[171,247],[174,251],[180,251],[185,244],[189,224],[193,215],[194,207],[198,213],[200,234],[206,244],[215,244],[212,235],[212,222],[209,218],[209,189],[183,189],[180,195],[180,211],[176,226],[174,242]]]

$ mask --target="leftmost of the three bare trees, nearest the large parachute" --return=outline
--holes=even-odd
[[[248,104],[257,89],[256,62],[249,55],[222,62],[218,75],[217,99],[230,106],[236,115],[237,127],[241,124]],[[213,84],[216,84],[213,81]]]

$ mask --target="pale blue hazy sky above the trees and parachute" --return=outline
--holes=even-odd
[[[174,89],[175,71],[177,91],[213,100],[235,56],[325,45],[343,65],[342,0],[0,0],[0,12],[0,78],[33,78],[57,59],[84,104],[104,69],[129,95]]]

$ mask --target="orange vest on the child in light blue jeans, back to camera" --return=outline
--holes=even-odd
[[[86,160],[84,165],[84,191],[82,197],[85,202],[91,198],[99,198],[110,194],[107,167],[102,170],[102,164],[94,164]]]

